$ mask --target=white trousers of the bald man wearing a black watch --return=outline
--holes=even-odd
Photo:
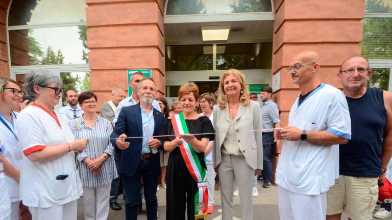
[[[278,186],[280,220],[325,220],[327,193],[300,195]]]

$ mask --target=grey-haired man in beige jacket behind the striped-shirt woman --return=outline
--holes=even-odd
[[[118,104],[125,98],[127,98],[127,93],[125,92],[125,90],[121,87],[114,87],[112,90],[111,99],[108,102],[103,103],[101,106],[101,117],[109,120],[109,122],[112,123],[114,116],[116,114],[116,109]],[[113,158],[117,169],[118,162],[120,161],[121,158],[121,150],[119,150],[118,148],[114,148]],[[118,191],[119,190],[122,191],[122,189],[120,188],[120,186],[122,185],[121,180],[122,180],[121,176],[118,175],[118,177],[112,181],[111,189],[110,189],[109,204],[110,204],[110,208],[115,211],[122,209],[121,206],[118,205],[117,203]]]

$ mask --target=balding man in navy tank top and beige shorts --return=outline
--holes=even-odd
[[[327,219],[339,219],[344,211],[350,219],[372,219],[378,184],[385,179],[392,156],[392,95],[366,88],[372,74],[364,57],[344,61],[337,73],[349,104],[353,139],[339,147],[339,179],[327,193]],[[387,218],[385,210],[378,218]]]

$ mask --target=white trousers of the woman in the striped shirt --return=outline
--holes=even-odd
[[[110,185],[83,187],[84,217],[86,220],[106,220],[109,215]]]

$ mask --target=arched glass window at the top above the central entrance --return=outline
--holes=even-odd
[[[169,0],[166,15],[271,12],[271,0]]]

